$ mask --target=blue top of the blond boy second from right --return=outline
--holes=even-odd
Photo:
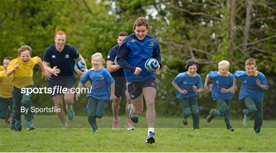
[[[229,89],[233,86],[234,75],[231,72],[227,72],[225,76],[221,76],[218,71],[210,71],[208,77],[214,79],[214,85],[212,88],[213,100],[217,100],[219,97],[225,100],[231,100],[233,98],[231,92],[220,92],[221,88]]]

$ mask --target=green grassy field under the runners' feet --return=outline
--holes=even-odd
[[[55,115],[36,115],[33,120],[36,130],[11,131],[1,120],[0,151],[3,152],[183,152],[183,151],[223,151],[223,152],[275,152],[276,121],[265,120],[261,134],[254,134],[250,127],[243,128],[242,120],[232,120],[235,132],[225,129],[223,120],[215,119],[206,123],[200,120],[201,129],[192,130],[192,120],[183,128],[180,117],[157,117],[156,143],[145,143],[147,137],[146,120],[140,116],[134,131],[120,129],[113,131],[112,117],[98,120],[100,129],[92,133],[86,116],[76,116],[68,122],[72,127],[62,131]],[[121,117],[120,127],[124,125]],[[163,127],[162,127],[163,126]],[[24,123],[25,127],[25,123]],[[58,127],[58,128],[57,128]],[[74,127],[74,128],[73,128]],[[211,128],[212,127],[212,128]]]

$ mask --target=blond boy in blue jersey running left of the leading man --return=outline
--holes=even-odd
[[[93,132],[97,132],[98,126],[96,118],[102,118],[108,101],[115,100],[117,97],[114,95],[115,83],[110,73],[103,68],[103,56],[101,53],[95,53],[91,56],[91,64],[93,67],[86,71],[79,82],[79,88],[83,88],[87,81],[90,81],[91,86],[88,98],[86,111],[88,113],[87,119],[92,126]],[[111,86],[111,91],[110,91]],[[80,93],[76,94],[76,100],[79,100]]]

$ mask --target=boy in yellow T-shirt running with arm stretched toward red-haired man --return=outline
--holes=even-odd
[[[13,59],[8,68],[7,75],[13,74],[12,85],[14,86],[12,91],[12,97],[14,101],[14,110],[12,113],[15,118],[15,129],[17,131],[22,130],[21,122],[21,106],[25,109],[25,119],[27,120],[27,130],[34,130],[35,127],[32,123],[33,113],[31,112],[31,94],[21,93],[21,88],[33,88],[33,68],[38,64],[42,70],[42,77],[49,79],[50,73],[45,70],[42,61],[39,57],[33,57],[32,48],[28,45],[23,45],[18,48],[18,57]]]

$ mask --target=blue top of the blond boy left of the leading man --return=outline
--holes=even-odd
[[[84,85],[87,81],[90,81],[91,83],[91,86],[89,87],[89,91],[91,92],[87,93],[86,97],[110,100],[110,85],[114,83],[114,80],[107,69],[89,69],[82,75],[80,83]]]

